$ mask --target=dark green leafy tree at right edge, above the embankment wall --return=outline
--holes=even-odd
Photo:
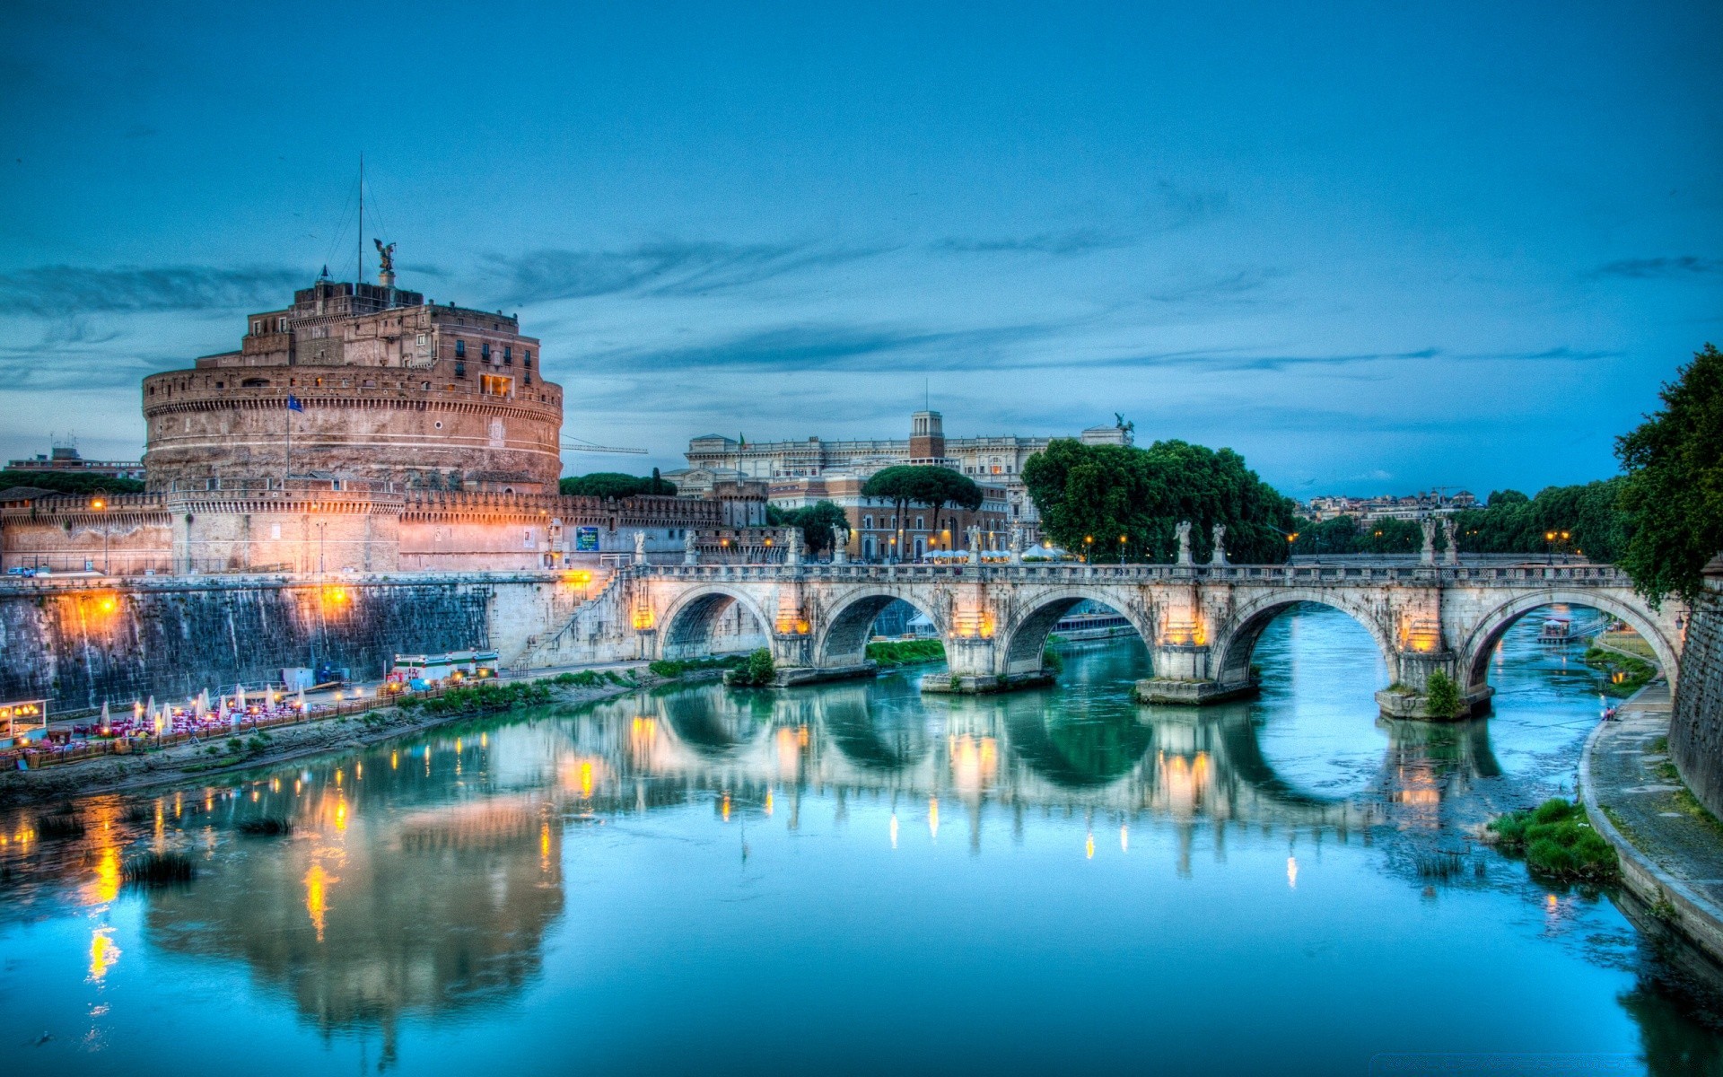
[[[1663,410],[1616,438],[1632,531],[1620,565],[1654,607],[1697,598],[1723,550],[1723,353],[1706,345],[1658,396]]]

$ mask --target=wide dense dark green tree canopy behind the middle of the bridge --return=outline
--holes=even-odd
[[[1180,520],[1196,527],[1192,553],[1206,560],[1210,529],[1227,527],[1227,557],[1273,563],[1287,557],[1292,500],[1256,477],[1230,448],[1187,441],[1084,445],[1056,439],[1023,465],[1023,482],[1041,510],[1041,529],[1072,551],[1094,538],[1108,555],[1125,536],[1129,560],[1170,562]],[[1098,557],[1101,557],[1098,553]]]

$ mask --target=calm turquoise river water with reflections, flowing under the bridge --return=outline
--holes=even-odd
[[[1689,955],[1468,837],[1571,793],[1604,707],[1533,634],[1463,725],[1378,720],[1370,636],[1303,607],[1201,712],[1130,701],[1132,639],[1036,693],[670,688],[17,815],[0,1072],[1720,1074]],[[196,877],[122,884],[152,848]]]

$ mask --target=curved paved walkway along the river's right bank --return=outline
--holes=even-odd
[[[1621,856],[1627,887],[1723,962],[1723,825],[1675,774],[1668,736],[1670,686],[1656,681],[1587,738],[1580,793],[1592,825]]]

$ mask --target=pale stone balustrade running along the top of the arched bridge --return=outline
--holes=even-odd
[[[1627,586],[1627,574],[1614,565],[865,565],[810,562],[801,565],[636,565],[632,572],[650,579],[687,581],[781,581],[829,579],[880,584],[930,581],[977,582],[1241,582],[1241,584],[1375,584],[1375,582],[1444,582],[1535,586],[1561,581],[1582,586]]]

